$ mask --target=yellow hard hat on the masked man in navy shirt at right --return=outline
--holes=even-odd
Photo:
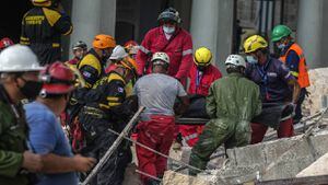
[[[260,48],[267,48],[267,47],[268,47],[267,41],[259,35],[253,35],[244,42],[244,50],[246,54],[256,51],[257,49]]]

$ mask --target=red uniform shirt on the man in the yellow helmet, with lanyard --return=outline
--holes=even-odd
[[[188,93],[208,95],[211,84],[221,77],[220,70],[212,65],[208,66],[201,73],[194,63],[189,72],[190,85]]]

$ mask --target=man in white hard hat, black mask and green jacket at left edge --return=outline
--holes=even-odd
[[[27,124],[21,104],[35,99],[42,89],[39,67],[33,51],[21,45],[0,54],[0,182],[5,185],[28,185],[31,173],[39,172],[39,154],[27,150]]]

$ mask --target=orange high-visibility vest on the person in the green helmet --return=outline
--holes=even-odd
[[[297,82],[301,88],[309,86],[309,78],[308,78],[304,53],[303,53],[303,49],[297,44],[295,44],[295,43],[292,44],[292,46],[288,49],[288,51],[283,56],[281,56],[279,59],[285,63],[286,56],[289,55],[290,50],[294,50],[298,55],[298,58],[300,58],[298,72],[291,71],[292,74],[297,78]]]

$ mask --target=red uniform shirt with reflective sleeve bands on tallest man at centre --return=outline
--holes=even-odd
[[[169,44],[167,44],[171,42]],[[165,47],[165,45],[167,45]],[[174,35],[167,39],[162,26],[149,31],[141,43],[137,54],[138,73],[142,74],[147,62],[151,60],[152,54],[164,51],[169,57],[168,74],[177,79],[187,79],[192,65],[192,41],[190,34],[177,28]],[[151,66],[149,63],[149,66]],[[149,67],[148,73],[151,71]]]

